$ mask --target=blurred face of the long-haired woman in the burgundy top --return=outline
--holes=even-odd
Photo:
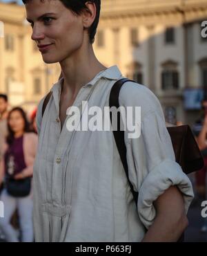
[[[10,113],[8,124],[14,134],[21,131],[23,132],[25,126],[23,117],[21,116],[21,113],[19,111],[12,111],[12,113]]]

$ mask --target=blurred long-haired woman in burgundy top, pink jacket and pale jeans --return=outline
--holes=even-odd
[[[0,184],[5,180],[1,194],[4,204],[4,218],[0,228],[6,241],[17,242],[17,233],[10,224],[14,211],[18,210],[21,241],[33,241],[32,188],[34,156],[37,150],[37,135],[29,132],[26,113],[20,107],[8,115],[8,137],[4,145],[4,159],[0,167]]]

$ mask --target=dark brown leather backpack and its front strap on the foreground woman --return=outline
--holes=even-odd
[[[119,108],[119,92],[124,83],[129,82],[127,78],[123,78],[115,82],[110,91],[109,107]],[[134,81],[131,81],[134,82]],[[118,113],[119,114],[119,113]],[[110,118],[112,116],[110,115]],[[120,118],[117,118],[117,131],[113,131],[117,149],[121,158],[121,162],[124,165],[124,170],[128,178],[128,165],[126,161],[126,145],[124,143],[124,131],[120,131]],[[112,119],[111,119],[112,121]],[[168,133],[172,140],[172,147],[175,152],[175,159],[179,165],[181,165],[183,172],[190,174],[196,172],[204,167],[204,158],[201,156],[201,152],[197,145],[197,142],[193,136],[188,125],[181,125],[176,127],[167,127]],[[130,180],[128,179],[129,183]],[[131,190],[132,185],[130,184]],[[133,192],[133,190],[132,190]],[[133,193],[135,201],[137,201],[137,194]]]

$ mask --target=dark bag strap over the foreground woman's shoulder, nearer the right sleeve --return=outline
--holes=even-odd
[[[116,107],[117,109],[119,108],[119,93],[121,90],[121,87],[126,83],[126,82],[134,82],[132,80],[128,80],[127,78],[122,78],[121,80],[118,80],[115,82],[115,84],[112,86],[112,89],[110,91],[110,98],[109,98],[109,107]],[[112,113],[110,112],[110,122],[112,124]],[[130,189],[132,192],[132,195],[135,199],[135,203],[137,205],[137,200],[138,200],[138,192],[135,192],[133,189],[132,183],[130,182],[129,176],[128,176],[128,164],[127,164],[127,159],[126,159],[126,145],[124,141],[124,131],[121,131],[120,129],[120,112],[117,113],[117,131],[113,130],[113,134],[115,137],[115,142],[117,145],[117,149],[119,151],[119,155],[121,158],[121,162],[124,166],[124,170],[126,172],[126,177],[128,179],[128,183],[130,185]]]

